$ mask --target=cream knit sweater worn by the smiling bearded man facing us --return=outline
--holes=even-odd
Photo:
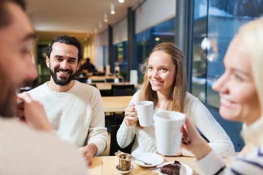
[[[48,82],[29,91],[33,99],[44,104],[48,118],[59,137],[77,147],[94,143],[102,153],[108,143],[105,115],[100,91],[75,81],[70,90],[55,92]]]

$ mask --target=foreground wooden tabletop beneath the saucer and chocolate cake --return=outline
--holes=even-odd
[[[233,157],[224,158],[227,166],[229,166]],[[200,169],[194,162],[194,157],[178,156],[178,157],[164,157],[164,162],[167,161],[180,161],[193,169],[193,174],[200,173]],[[94,157],[93,163],[89,166],[88,173],[96,175],[119,175],[116,165],[119,164],[117,156],[97,156]],[[129,174],[158,174],[157,171],[149,171],[147,167],[141,167],[132,162],[133,170]]]

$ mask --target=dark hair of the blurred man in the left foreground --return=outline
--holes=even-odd
[[[0,0],[0,28],[7,26],[12,22],[12,16],[7,8],[7,2],[13,2],[18,4],[22,9],[26,10],[26,4],[24,0]]]

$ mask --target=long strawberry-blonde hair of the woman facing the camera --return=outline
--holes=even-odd
[[[144,61],[144,77],[143,84],[139,93],[139,101],[149,100],[153,101],[154,104],[158,102],[156,91],[152,90],[151,84],[147,77],[148,71],[148,62],[151,54],[155,51],[163,51],[169,54],[172,58],[173,64],[175,65],[175,77],[173,82],[173,90],[169,96],[169,101],[166,105],[166,110],[176,110],[183,112],[184,98],[187,91],[187,81],[184,68],[184,54],[178,48],[178,46],[171,42],[163,42],[156,45],[149,57]],[[135,126],[138,126],[138,122],[134,123]]]

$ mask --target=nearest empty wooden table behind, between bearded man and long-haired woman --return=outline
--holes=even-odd
[[[123,112],[132,96],[102,96],[105,112]]]

